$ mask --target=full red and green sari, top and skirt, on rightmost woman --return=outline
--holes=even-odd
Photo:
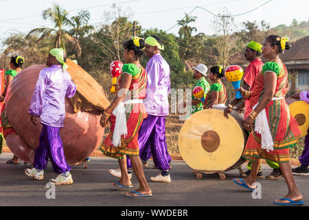
[[[268,62],[271,63],[271,62]],[[275,89],[276,98],[285,97],[288,92],[288,72],[282,61],[276,62],[280,71],[277,74],[277,85]],[[266,65],[266,64],[265,64]],[[267,71],[267,70],[266,70]],[[255,78],[253,94],[250,97],[251,108],[257,104],[264,94],[264,73],[260,72]],[[254,158],[269,159],[273,162],[289,162],[289,148],[295,146],[301,131],[296,120],[290,114],[288,104],[284,98],[271,100],[265,108],[269,129],[273,137],[273,151],[261,148],[261,135],[251,132],[244,148],[242,157],[254,161]]]

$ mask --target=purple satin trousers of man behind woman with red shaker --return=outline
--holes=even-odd
[[[165,116],[148,115],[139,129],[139,157],[147,161],[152,156],[159,170],[170,170],[171,161],[168,144],[165,139]],[[132,168],[126,157],[128,168]]]

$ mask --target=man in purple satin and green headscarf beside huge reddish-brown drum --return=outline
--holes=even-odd
[[[49,52],[45,69],[42,69],[32,95],[29,113],[31,122],[38,125],[38,118],[43,125],[40,144],[34,155],[34,168],[25,169],[25,174],[34,179],[44,179],[44,169],[48,159],[51,160],[56,179],[49,182],[55,185],[73,184],[71,167],[65,160],[60,128],[65,121],[65,98],[71,98],[76,93],[76,85],[65,70],[65,52],[55,48]]]

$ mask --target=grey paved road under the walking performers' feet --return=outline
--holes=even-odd
[[[163,184],[148,181],[153,196],[150,198],[128,198],[127,190],[111,188],[117,178],[108,173],[110,168],[117,168],[117,160],[108,157],[91,157],[88,169],[82,165],[72,166],[74,184],[56,186],[56,198],[47,199],[45,187],[47,180],[56,177],[49,163],[45,170],[45,179],[35,181],[23,172],[27,166],[5,164],[12,157],[11,153],[0,155],[0,206],[273,206],[273,199],[282,197],[287,192],[284,179],[270,181],[259,179],[262,185],[262,199],[253,199],[251,192],[233,183],[239,177],[238,170],[226,173],[226,179],[218,175],[203,175],[196,179],[192,169],[182,161],[173,161],[170,170],[172,183]],[[145,169],[146,178],[157,175],[152,167]],[[245,166],[243,165],[245,169]],[[262,166],[264,176],[271,173],[271,168]],[[305,206],[309,205],[309,177],[295,177]],[[133,175],[133,185],[137,178]],[[134,187],[135,188],[135,187]],[[133,189],[134,189],[133,188]]]

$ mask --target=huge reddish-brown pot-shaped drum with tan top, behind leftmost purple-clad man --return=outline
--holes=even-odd
[[[76,95],[65,100],[65,124],[60,129],[65,157],[69,164],[76,164],[87,158],[98,148],[104,129],[100,126],[101,111],[109,102],[99,83],[73,61],[68,60],[67,71],[77,85]],[[5,109],[8,120],[16,131],[5,139],[8,147],[25,162],[33,162],[34,151],[39,144],[42,125],[30,122],[30,102],[38,74],[46,65],[34,65],[23,69],[12,80]]]

